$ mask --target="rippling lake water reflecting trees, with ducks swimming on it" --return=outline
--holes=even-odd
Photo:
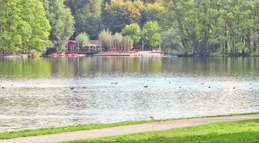
[[[0,87],[0,131],[259,112],[259,58],[0,58]]]

